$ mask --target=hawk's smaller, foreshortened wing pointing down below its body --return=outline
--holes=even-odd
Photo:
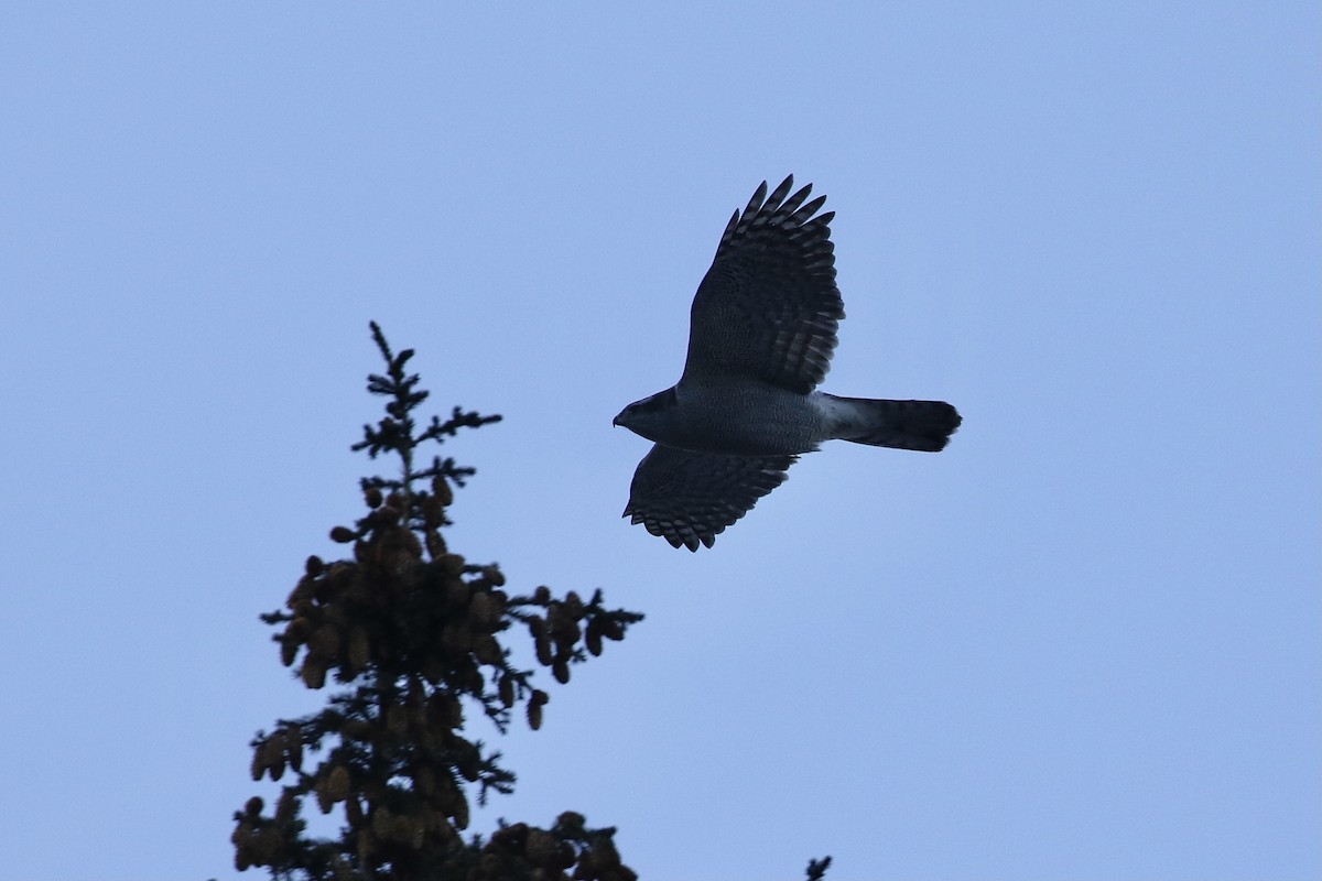
[[[717,535],[781,485],[795,456],[722,456],[656,444],[629,486],[624,516],[674,547],[709,548]]]

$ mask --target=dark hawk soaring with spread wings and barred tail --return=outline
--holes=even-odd
[[[836,287],[834,211],[763,181],[726,225],[693,299],[689,357],[673,387],[635,402],[616,425],[654,441],[624,516],[678,548],[717,535],[780,486],[822,441],[937,452],[960,427],[940,400],[871,400],[816,391],[845,308]]]

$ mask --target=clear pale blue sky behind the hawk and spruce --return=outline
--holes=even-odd
[[[505,416],[447,446],[452,547],[648,614],[475,829],[1322,877],[1319,57],[1300,0],[7,3],[0,874],[241,877],[247,742],[324,699],[256,616],[361,511],[374,318]],[[789,172],[838,211],[824,388],[964,428],[674,551],[611,419]]]

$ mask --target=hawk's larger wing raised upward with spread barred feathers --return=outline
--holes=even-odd
[[[693,299],[683,378],[761,379],[806,394],[822,380],[845,308],[830,242],[834,211],[804,203],[805,186],[785,198],[793,176],[767,197],[763,182],[720,236]],[[765,201],[764,201],[765,199]]]

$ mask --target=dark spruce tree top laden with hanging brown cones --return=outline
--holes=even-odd
[[[364,427],[353,449],[398,461],[398,477],[361,481],[366,512],[330,538],[348,556],[308,557],[283,609],[262,616],[278,627],[280,659],[303,684],[329,683],[325,709],[282,719],[253,740],[253,779],[283,781],[274,811],[254,796],[235,812],[234,863],[275,878],[311,881],[633,881],[613,828],[592,828],[566,811],[547,827],[502,823],[484,839],[464,836],[472,803],[510,793],[514,773],[501,754],[467,733],[480,713],[505,733],[521,709],[533,729],[550,696],[533,670],[512,663],[509,637],[526,630],[537,663],[564,684],[574,664],[623,639],[642,616],[607,609],[602,592],[505,589],[496,564],[476,564],[442,536],[453,487],[473,469],[419,450],[500,416],[455,408],[420,421],[428,392],[407,372],[411,350],[393,353],[371,334],[383,375],[368,391],[385,416]],[[308,835],[304,804],[340,811],[338,837]]]

